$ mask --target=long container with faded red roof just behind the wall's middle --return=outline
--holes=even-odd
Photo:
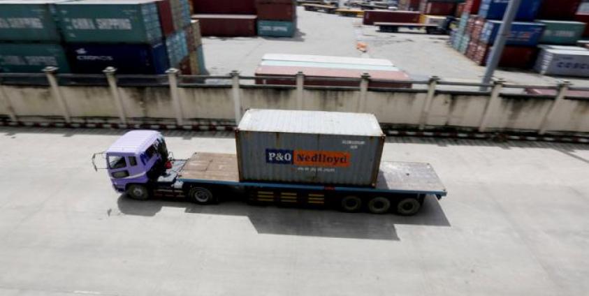
[[[337,68],[316,68],[316,67],[291,67],[291,66],[259,66],[256,69],[256,76],[282,76],[295,77],[298,71],[305,73],[305,84],[318,86],[333,86],[333,87],[358,87],[359,79],[363,73],[368,73],[370,78],[374,80],[391,80],[387,81],[371,81],[370,87],[395,87],[410,89],[412,84],[409,82],[411,78],[402,71],[381,71],[381,70],[352,70],[352,69],[337,69]],[[344,81],[333,80],[330,78],[356,78],[358,81]],[[256,84],[278,84],[278,85],[294,85],[295,80],[284,79],[268,79],[257,78]]]

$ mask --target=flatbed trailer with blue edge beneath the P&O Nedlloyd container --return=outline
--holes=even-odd
[[[428,163],[382,162],[377,184],[372,187],[322,186],[280,182],[240,181],[235,154],[195,153],[175,160],[154,183],[153,194],[185,197],[206,204],[221,202],[227,190],[238,191],[247,202],[266,205],[337,207],[345,212],[399,214],[419,212],[427,195],[438,199],[446,189]],[[388,206],[387,206],[388,203]]]

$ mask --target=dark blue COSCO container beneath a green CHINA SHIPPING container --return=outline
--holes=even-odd
[[[120,74],[162,74],[168,70],[166,45],[154,44],[68,44],[73,73],[102,73],[106,67]]]

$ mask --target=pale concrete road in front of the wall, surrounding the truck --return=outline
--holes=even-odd
[[[112,191],[122,131],[0,128],[0,295],[587,295],[589,146],[388,138],[449,196],[413,217]],[[166,132],[177,158],[231,133]]]

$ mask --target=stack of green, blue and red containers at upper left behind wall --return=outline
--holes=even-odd
[[[191,52],[202,56],[198,24],[193,27],[187,0],[0,1],[0,40],[52,42],[0,44],[0,71],[57,66],[62,73],[101,73],[112,66],[124,74],[161,74],[170,67],[204,73],[202,61],[194,71],[199,68],[189,59]]]

